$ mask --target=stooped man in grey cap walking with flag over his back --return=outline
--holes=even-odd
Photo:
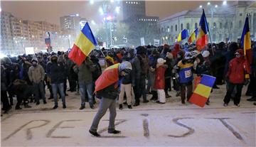
[[[100,108],[92,121],[90,127],[90,134],[96,137],[100,137],[97,133],[97,128],[100,123],[100,119],[106,114],[107,109],[110,109],[110,124],[108,127],[109,134],[119,134],[121,131],[114,129],[114,119],[117,116],[116,99],[119,95],[119,79],[132,72],[132,64],[128,61],[117,63],[110,67],[107,67],[102,75],[95,82],[95,92],[97,97],[100,97]]]

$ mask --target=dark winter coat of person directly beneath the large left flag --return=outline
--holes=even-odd
[[[78,73],[79,83],[90,84],[92,83],[92,72],[95,71],[95,65],[90,59],[87,59],[85,62],[82,62],[80,67],[75,65],[74,71]]]

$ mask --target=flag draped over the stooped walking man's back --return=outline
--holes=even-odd
[[[119,63],[107,67],[102,75],[95,82],[95,92],[100,91],[101,89],[105,89],[106,87],[113,85],[116,83],[118,85],[119,80]],[[117,87],[116,85],[116,87]]]

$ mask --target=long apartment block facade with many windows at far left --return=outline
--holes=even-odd
[[[22,20],[1,11],[1,53],[20,55],[25,53],[26,47],[33,47],[35,52],[46,50],[47,32],[50,33],[54,51],[68,50],[75,38],[73,30],[65,30],[46,21]]]

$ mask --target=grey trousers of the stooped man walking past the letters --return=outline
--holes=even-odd
[[[116,109],[116,99],[107,99],[102,97],[100,99],[100,108],[95,115],[95,118],[92,121],[92,126],[90,127],[90,131],[96,132],[98,125],[100,123],[100,119],[106,114],[107,109],[110,109],[110,123],[108,127],[108,131],[114,131],[114,120],[117,116],[117,109]]]

